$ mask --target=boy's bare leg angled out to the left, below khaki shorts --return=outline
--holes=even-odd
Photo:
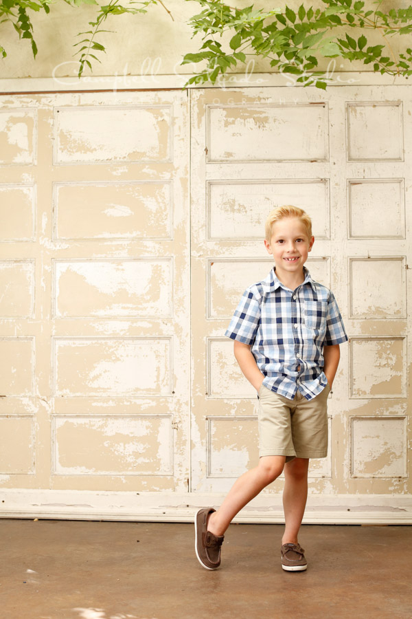
[[[243,473],[235,481],[220,508],[210,514],[207,530],[214,535],[223,535],[233,517],[259,492],[282,473],[285,456],[262,456],[258,466]]]

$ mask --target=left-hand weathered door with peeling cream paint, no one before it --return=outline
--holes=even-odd
[[[187,110],[179,89],[0,98],[5,514],[187,492]]]

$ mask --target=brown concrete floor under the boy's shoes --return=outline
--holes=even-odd
[[[301,529],[307,572],[284,572],[281,525],[233,524],[222,565],[182,523],[0,520],[1,619],[411,619],[412,530]]]

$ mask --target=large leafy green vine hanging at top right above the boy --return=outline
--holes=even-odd
[[[411,34],[412,6],[384,13],[379,10],[382,0],[375,2],[376,10],[366,10],[361,0],[323,0],[324,10],[301,4],[297,12],[288,6],[264,12],[253,6],[233,8],[216,0],[196,1],[203,11],[189,23],[193,36],[203,34],[204,42],[198,52],[186,54],[182,64],[204,62],[206,67],[185,86],[208,80],[216,83],[221,74],[251,57],[268,58],[277,71],[299,76],[297,82],[305,86],[314,83],[323,89],[331,78],[321,79],[326,72],[317,70],[319,56],[372,63],[374,72],[380,74],[412,74],[411,47],[405,47],[397,58],[389,41]],[[344,34],[336,36],[336,28]],[[381,44],[369,45],[371,31],[380,33]],[[225,33],[231,34],[226,49],[218,41]]]

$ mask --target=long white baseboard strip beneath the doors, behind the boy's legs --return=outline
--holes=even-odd
[[[192,522],[196,510],[225,495],[188,492],[92,492],[3,489],[0,517],[67,520]],[[281,495],[253,499],[234,519],[283,523]],[[306,524],[412,524],[412,495],[310,495]]]

